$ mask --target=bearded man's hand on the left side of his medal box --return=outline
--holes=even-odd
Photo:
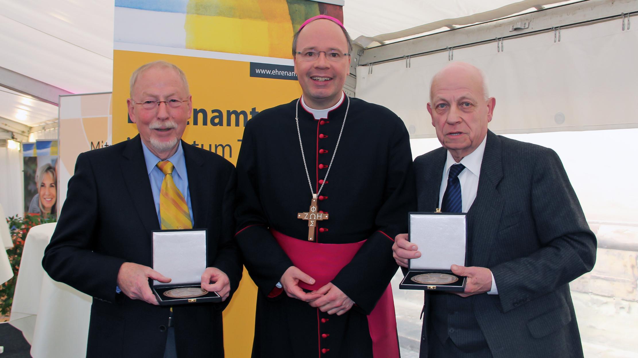
[[[141,299],[144,302],[158,305],[158,300],[149,286],[149,277],[161,283],[170,282],[158,271],[149,266],[124,262],[117,273],[117,286],[130,299]]]

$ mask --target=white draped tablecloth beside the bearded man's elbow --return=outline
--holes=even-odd
[[[42,268],[56,223],[34,226],[22,251],[10,324],[31,343],[33,358],[84,358],[91,297],[52,280]]]

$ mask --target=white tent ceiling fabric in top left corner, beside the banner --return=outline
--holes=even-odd
[[[111,90],[113,0],[0,0],[0,8],[0,67],[73,93]]]

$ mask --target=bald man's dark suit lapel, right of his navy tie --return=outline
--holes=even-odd
[[[470,266],[486,267],[489,263],[492,241],[503,210],[503,198],[496,190],[503,178],[500,138],[487,131],[487,142],[481,162],[477,197],[468,211],[470,235]]]

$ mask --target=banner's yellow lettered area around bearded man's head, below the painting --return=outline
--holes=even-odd
[[[115,50],[114,143],[137,135],[137,127],[129,123],[126,109],[131,73],[142,64],[160,59],[186,73],[193,96],[193,115],[182,139],[233,164],[237,162],[246,122],[260,111],[288,103],[301,94],[296,81],[250,77],[250,62]]]

